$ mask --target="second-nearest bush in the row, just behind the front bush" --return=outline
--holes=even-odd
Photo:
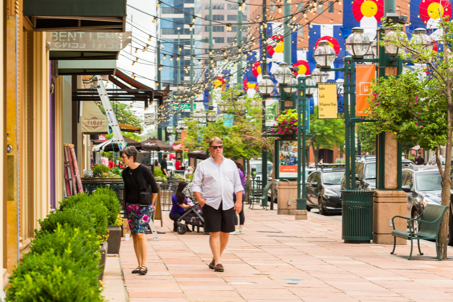
[[[57,210],[55,213],[50,213],[43,220],[38,220],[41,229],[35,230],[36,237],[40,237],[45,233],[53,233],[59,225],[67,225],[70,228],[77,228],[81,232],[88,231],[95,233],[95,217],[84,208],[66,208],[64,211]]]

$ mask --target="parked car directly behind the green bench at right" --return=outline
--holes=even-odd
[[[416,218],[429,203],[441,204],[442,178],[436,168],[419,170],[403,169],[403,191],[407,193],[407,216]],[[450,190],[453,193],[453,190]],[[448,223],[448,245],[453,246],[453,213],[451,213]],[[412,221],[412,228],[418,232],[418,222]]]

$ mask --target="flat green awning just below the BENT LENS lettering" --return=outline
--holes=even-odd
[[[115,74],[116,60],[58,61],[58,75]]]

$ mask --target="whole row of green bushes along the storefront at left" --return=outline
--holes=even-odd
[[[10,277],[7,301],[104,301],[99,247],[120,210],[110,189],[62,200],[59,210],[38,220],[41,229],[35,230],[31,252]]]

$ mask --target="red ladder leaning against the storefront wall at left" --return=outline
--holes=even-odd
[[[70,143],[65,143],[63,147],[63,155],[64,155],[64,183],[66,186],[66,196],[72,196],[77,194],[79,189],[79,193],[83,194],[84,189],[82,187],[82,179],[80,178],[80,171],[79,166],[77,165],[77,158],[75,158],[75,151],[74,145]],[[68,170],[71,173],[71,177],[69,178]],[[72,192],[71,186],[69,181],[72,182]]]

